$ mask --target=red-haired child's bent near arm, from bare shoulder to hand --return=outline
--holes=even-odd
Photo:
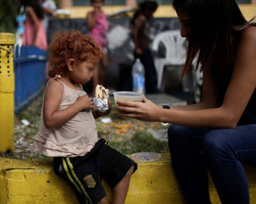
[[[76,102],[69,107],[58,111],[61,98],[62,98],[63,86],[60,82],[51,80],[47,85],[44,94],[44,125],[47,129],[57,128],[60,125],[65,124],[77,113],[84,109],[92,109],[92,98],[86,96],[78,97]]]

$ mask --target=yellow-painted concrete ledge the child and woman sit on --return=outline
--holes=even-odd
[[[1,204],[78,204],[72,188],[54,174],[52,159],[26,161],[0,158],[0,168]],[[251,203],[256,203],[255,170],[256,168],[245,166]],[[103,185],[110,203],[111,190],[105,182]],[[212,203],[220,203],[211,180],[209,185]],[[169,154],[162,154],[157,162],[138,162],[138,170],[132,176],[125,203],[184,203]]]

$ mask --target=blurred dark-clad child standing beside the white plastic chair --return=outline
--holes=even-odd
[[[146,30],[146,22],[153,18],[153,13],[157,9],[155,1],[143,1],[139,4],[138,10],[131,20],[132,39],[135,44],[134,57],[140,58],[145,67],[145,87],[147,94],[157,93],[157,74],[154,58],[149,49],[150,38]]]

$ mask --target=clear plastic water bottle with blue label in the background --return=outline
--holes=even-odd
[[[132,91],[145,94],[145,69],[137,58],[132,66]]]

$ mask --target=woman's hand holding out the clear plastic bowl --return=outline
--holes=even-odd
[[[159,121],[159,112],[162,107],[155,105],[146,97],[142,98],[142,103],[117,101],[117,104],[115,108],[123,112],[120,114],[121,117],[132,117],[141,121]]]

